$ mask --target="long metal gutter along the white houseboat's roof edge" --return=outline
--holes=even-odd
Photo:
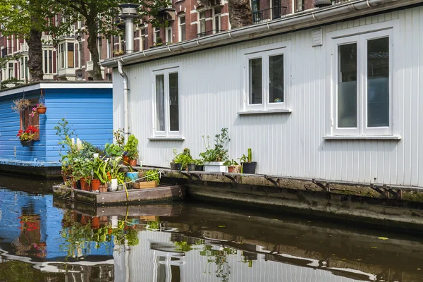
[[[288,18],[272,20],[269,23],[249,25],[235,30],[219,32],[214,35],[191,39],[184,42],[167,45],[164,47],[155,47],[146,51],[137,51],[133,54],[121,56],[125,59],[125,64],[147,61],[154,58],[161,58],[173,54],[183,54],[188,51],[196,51],[231,42],[239,42],[245,39],[255,39],[268,35],[292,32],[305,27],[313,27],[331,23],[336,20],[364,16],[376,11],[385,11],[402,6],[422,3],[423,0],[357,0],[345,2],[345,4],[336,4],[325,8],[317,8],[304,13],[298,13]],[[116,59],[102,61],[101,66],[116,67]]]

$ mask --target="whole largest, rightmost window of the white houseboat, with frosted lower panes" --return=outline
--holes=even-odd
[[[392,29],[333,40],[333,134],[392,134]]]

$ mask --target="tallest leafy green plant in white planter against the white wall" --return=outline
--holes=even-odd
[[[207,141],[202,135],[204,147],[206,152],[201,152],[200,157],[204,161],[226,161],[228,160],[228,149],[224,149],[225,145],[231,141],[228,136],[228,128],[222,128],[220,134],[214,135],[214,148],[212,149],[209,144],[209,136]]]

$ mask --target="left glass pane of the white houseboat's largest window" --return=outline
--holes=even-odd
[[[338,46],[338,128],[357,127],[357,43]]]

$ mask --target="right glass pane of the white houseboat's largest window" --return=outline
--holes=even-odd
[[[367,41],[367,127],[389,126],[389,37]]]

